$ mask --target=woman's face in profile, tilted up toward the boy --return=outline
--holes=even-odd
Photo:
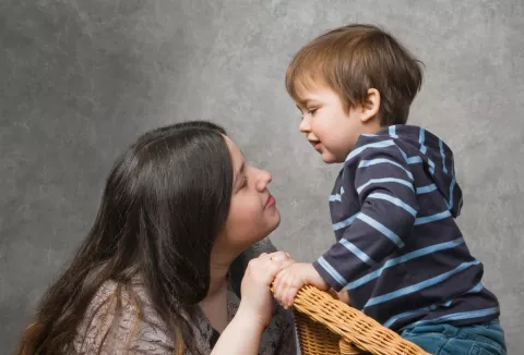
[[[249,166],[235,143],[225,139],[233,160],[233,196],[224,232],[217,236],[215,247],[238,255],[273,232],[281,213],[267,189],[271,174]]]

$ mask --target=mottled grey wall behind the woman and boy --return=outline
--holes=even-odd
[[[394,3],[1,0],[0,352],[90,228],[116,155],[159,124],[224,124],[273,173],[274,243],[305,260],[331,245],[338,167],[298,133],[283,77],[299,46],[358,21],[392,30],[426,63],[410,122],[456,154],[458,222],[500,298],[510,354],[521,353],[523,1]]]

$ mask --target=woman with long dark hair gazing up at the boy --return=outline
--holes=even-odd
[[[293,260],[263,253],[279,223],[270,182],[212,123],[142,135],[19,354],[295,354],[269,290]]]

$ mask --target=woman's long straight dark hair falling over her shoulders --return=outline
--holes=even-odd
[[[94,225],[45,294],[20,355],[68,354],[107,280],[140,276],[174,339],[194,344],[184,317],[210,286],[213,241],[227,219],[233,164],[222,127],[178,123],[142,135],[114,166]],[[180,342],[176,344],[181,351]]]

